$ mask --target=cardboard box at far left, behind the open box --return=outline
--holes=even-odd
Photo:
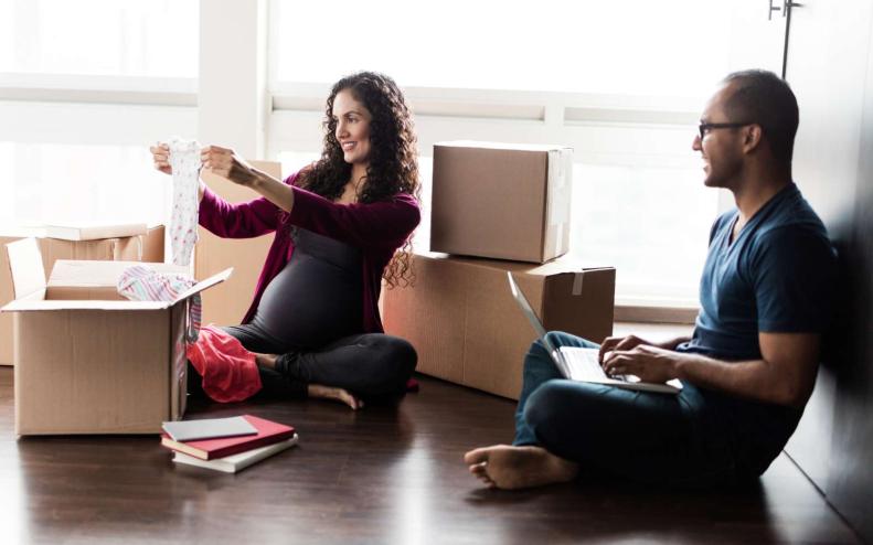
[[[143,225],[145,227],[145,225]],[[20,229],[0,236],[0,307],[13,299],[6,245],[24,236],[39,236],[42,261],[47,277],[57,259],[121,260],[163,263],[163,225],[146,228],[145,234],[96,241],[46,238],[45,229]],[[12,365],[12,316],[0,313],[0,365]]]

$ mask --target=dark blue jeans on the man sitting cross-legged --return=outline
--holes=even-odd
[[[550,332],[549,340],[555,348],[598,348],[568,333]],[[784,407],[689,383],[674,395],[564,380],[540,341],[524,360],[523,381],[513,445],[542,446],[579,463],[582,474],[686,487],[733,483],[760,474],[794,430],[779,432],[780,425],[762,434],[773,426],[747,421],[762,408],[779,416]]]

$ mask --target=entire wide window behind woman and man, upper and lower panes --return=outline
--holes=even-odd
[[[434,142],[566,145],[575,150],[571,254],[616,266],[619,303],[696,304],[709,229],[726,200],[702,185],[691,142],[705,98],[732,67],[738,8],[408,6],[273,1],[272,156],[317,158],[330,84],[358,70],[384,72],[416,115],[426,189],[417,248],[429,237]]]

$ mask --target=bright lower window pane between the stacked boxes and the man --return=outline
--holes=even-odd
[[[703,186],[700,173],[576,163],[573,179],[571,253],[614,265],[626,304],[692,302],[718,213],[717,192]]]

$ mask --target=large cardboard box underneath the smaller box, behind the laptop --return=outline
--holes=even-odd
[[[511,270],[550,331],[600,342],[613,333],[615,269],[416,254],[411,288],[386,290],[385,331],[418,352],[417,371],[518,399],[536,334],[510,292]]]

